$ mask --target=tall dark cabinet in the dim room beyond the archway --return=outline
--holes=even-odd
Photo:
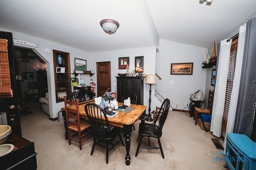
[[[45,93],[48,92],[47,71],[36,71],[36,75],[38,82],[38,95],[39,97],[45,97]]]

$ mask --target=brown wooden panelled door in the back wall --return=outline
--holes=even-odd
[[[111,62],[97,62],[97,96],[102,96],[107,90],[111,91]]]

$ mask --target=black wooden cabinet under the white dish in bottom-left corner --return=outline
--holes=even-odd
[[[1,170],[36,170],[37,162],[34,142],[25,138],[10,134],[7,143],[13,144],[12,152],[0,156]]]

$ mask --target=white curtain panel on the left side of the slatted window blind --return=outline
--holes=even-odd
[[[212,121],[210,131],[213,135],[221,136],[221,124],[225,102],[225,91],[227,85],[227,71],[230,58],[230,47],[232,39],[221,41],[218,57],[217,77],[215,82],[214,100],[212,105]]]

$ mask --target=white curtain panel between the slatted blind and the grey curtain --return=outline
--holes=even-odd
[[[241,79],[241,70],[243,64],[243,57],[244,57],[244,41],[245,41],[245,31],[246,31],[246,24],[239,28],[239,39],[238,39],[238,47],[236,53],[236,66],[235,66],[235,74],[233,79],[233,88],[232,94],[230,99],[230,108],[227,117],[227,129],[226,129],[226,136],[224,140],[224,148],[226,148],[227,142],[227,133],[232,133],[234,128],[234,122],[236,118],[236,106],[239,94],[239,86],[240,86],[240,79]]]

